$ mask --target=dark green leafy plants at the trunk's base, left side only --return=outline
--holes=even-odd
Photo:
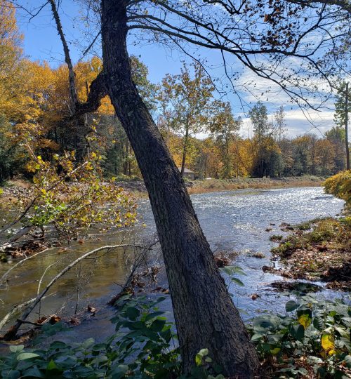
[[[211,368],[206,349],[197,354],[192,372],[181,374],[174,325],[158,308],[164,299],[120,298],[112,319],[116,333],[103,343],[88,338],[83,343],[55,341],[45,349],[11,346],[0,357],[1,378],[224,379],[216,373],[219,367]],[[62,323],[44,326],[37,343],[62,329]]]

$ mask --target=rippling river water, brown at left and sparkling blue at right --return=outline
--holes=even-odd
[[[137,226],[105,236],[92,234],[91,239],[84,244],[70,246],[71,250],[68,253],[65,249],[53,248],[13,270],[8,277],[7,286],[0,287],[1,319],[14,305],[35,297],[39,281],[49,265],[54,264],[42,279],[41,288],[65,265],[86,251],[106,244],[135,243],[150,238],[155,232],[150,203],[147,199],[140,199],[138,202],[140,222]],[[333,216],[343,208],[343,201],[324,194],[321,187],[243,189],[195,194],[192,195],[192,204],[213,251],[241,252],[235,264],[246,273],[245,277],[240,277],[245,286],[233,287],[231,292],[234,294],[234,303],[245,310],[244,319],[264,310],[284,310],[284,295],[270,287],[272,281],[282,277],[262,271],[263,265],[272,264],[270,248],[276,244],[269,240],[270,235],[284,234],[279,227],[282,222],[293,225],[312,218]],[[267,227],[272,227],[272,231],[266,232]],[[263,253],[265,258],[253,258],[250,256],[252,252]],[[69,338],[72,338],[72,333],[77,340],[84,340],[90,336],[104,338],[113,330],[109,321],[113,310],[105,307],[105,303],[119,291],[118,284],[124,283],[131,269],[124,258],[124,250],[119,249],[102,254],[98,259],[84,260],[52,287],[51,295],[43,300],[40,310],[38,308],[33,312],[32,320],[37,319],[39,314],[63,312],[73,315],[78,299],[77,311],[84,309],[89,303],[100,311],[89,321],[72,328]],[[16,260],[12,260],[1,264],[0,276],[15,262]],[[260,297],[252,300],[253,293],[258,293]],[[322,293],[326,298],[340,295],[330,290]],[[62,305],[65,305],[64,311]],[[171,311],[169,299],[162,306]]]

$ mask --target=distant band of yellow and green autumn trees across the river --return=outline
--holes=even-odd
[[[16,175],[30,178],[33,157],[50,162],[64,152],[74,152],[77,161],[95,152],[106,176],[140,177],[110,100],[103,99],[98,112],[73,122],[67,67],[52,69],[46,62],[27,60],[13,8],[1,9],[7,22],[0,25],[0,181]],[[173,159],[197,178],[330,175],[345,168],[345,129],[337,122],[320,138],[287,138],[283,107],[270,120],[259,102],[249,112],[253,137],[241,138],[241,119],[228,102],[215,98],[213,83],[199,63],[166,75],[158,85],[147,80],[147,67],[138,58],[131,57],[131,66]],[[74,67],[79,100],[86,100],[101,69],[99,58]],[[199,140],[198,133],[208,137]]]

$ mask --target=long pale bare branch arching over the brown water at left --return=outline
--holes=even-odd
[[[94,250],[92,251],[88,251],[88,253],[85,253],[84,255],[81,255],[81,257],[79,257],[77,260],[74,260],[74,262],[70,263],[67,267],[65,267],[65,269],[63,269],[61,272],[59,272],[51,281],[50,283],[44,288],[43,291],[41,291],[41,293],[39,293],[39,295],[37,295],[36,298],[33,298],[31,300],[28,300],[28,302],[25,302],[21,305],[19,305],[18,307],[20,307],[20,309],[17,309],[16,310],[12,310],[10,312],[10,314],[7,314],[6,317],[0,321],[0,328],[1,326],[4,326],[8,319],[11,317],[11,315],[17,313],[19,310],[27,307],[27,310],[22,314],[22,317],[20,317],[20,319],[18,319],[15,323],[15,325],[13,325],[11,327],[11,329],[4,335],[3,339],[4,340],[14,340],[16,338],[16,335],[18,333],[18,330],[20,328],[20,326],[23,324],[23,321],[26,321],[27,317],[29,316],[29,314],[32,312],[32,310],[34,310],[34,308],[39,304],[39,302],[44,298],[44,295],[46,295],[46,293],[48,292],[48,290],[51,288],[51,286],[53,286],[53,284],[55,284],[56,281],[58,281],[58,279],[60,279],[60,277],[62,277],[63,275],[65,275],[69,270],[72,269],[72,267],[74,267],[75,265],[77,265],[79,262],[81,262],[82,260],[88,258],[89,255],[92,255],[92,254],[95,254],[95,253],[98,253],[98,251],[102,251],[102,250],[107,250],[107,251],[110,251],[111,249],[115,249],[115,248],[126,248],[126,247],[134,247],[134,248],[145,248],[145,246],[141,246],[141,245],[132,245],[132,244],[120,244],[120,245],[110,245],[110,246],[102,246],[100,248],[95,248]]]

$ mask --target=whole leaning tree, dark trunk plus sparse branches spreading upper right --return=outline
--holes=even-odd
[[[133,84],[127,35],[128,41],[145,38],[173,44],[188,54],[218,51],[234,91],[237,77],[228,68],[236,61],[301,105],[317,109],[330,94],[317,91],[312,79],[318,76],[329,82],[331,69],[322,65],[323,57],[350,34],[350,13],[337,1],[310,6],[283,0],[102,0],[101,8],[96,7],[98,1],[86,2],[101,13],[98,33],[104,67],[91,84],[88,101],[76,104],[75,116],[94,111],[109,95],[128,135],[164,254],[184,370],[189,371],[195,354],[207,347],[225,375],[252,378],[258,369],[256,352],[220,277],[183,179]],[[54,0],[50,3],[55,5]]]

